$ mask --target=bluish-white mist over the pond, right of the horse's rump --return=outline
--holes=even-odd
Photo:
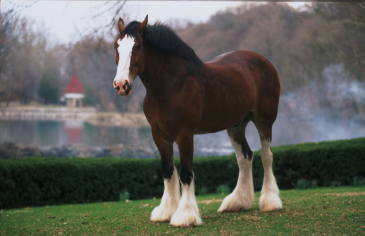
[[[281,96],[273,146],[365,136],[365,84],[343,64],[327,66],[322,77]]]

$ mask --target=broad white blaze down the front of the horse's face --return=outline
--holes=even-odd
[[[116,83],[123,81],[128,81],[128,83],[131,83],[129,76],[129,67],[131,65],[131,55],[134,45],[134,39],[131,37],[125,37],[123,40],[119,39],[117,41],[117,44],[119,45],[117,48],[119,61],[114,81]]]

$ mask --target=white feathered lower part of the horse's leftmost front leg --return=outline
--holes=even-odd
[[[165,190],[162,195],[160,206],[156,207],[151,213],[151,221],[170,221],[175,213],[180,201],[180,184],[176,167],[172,177],[164,180]]]

